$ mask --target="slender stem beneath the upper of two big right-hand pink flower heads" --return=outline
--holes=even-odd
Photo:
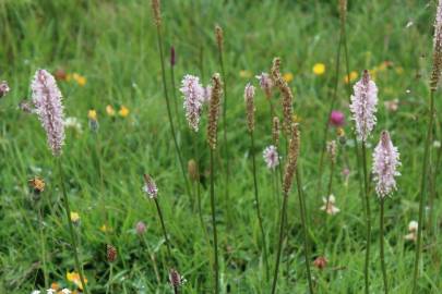
[[[362,142],[362,168],[363,168],[363,184],[365,184],[365,200],[366,200],[366,224],[367,224],[367,247],[366,247],[366,265],[363,269],[363,278],[366,282],[366,294],[370,293],[369,282],[369,265],[370,265],[370,243],[371,243],[371,212],[370,212],[370,198],[369,198],[369,183],[367,171],[367,151],[366,143]]]

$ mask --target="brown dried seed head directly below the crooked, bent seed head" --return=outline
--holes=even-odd
[[[291,137],[288,146],[288,161],[286,163],[286,170],[283,180],[284,195],[287,196],[294,179],[296,167],[298,163],[299,147],[300,147],[300,132],[297,123],[291,125]]]

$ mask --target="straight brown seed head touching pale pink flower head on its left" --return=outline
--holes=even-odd
[[[207,143],[212,150],[216,149],[222,81],[218,73],[212,77],[212,96],[208,106]]]

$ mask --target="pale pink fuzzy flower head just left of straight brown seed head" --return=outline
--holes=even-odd
[[[204,100],[204,88],[200,84],[200,78],[190,74],[184,75],[180,91],[184,98],[183,106],[189,126],[198,132]]]

